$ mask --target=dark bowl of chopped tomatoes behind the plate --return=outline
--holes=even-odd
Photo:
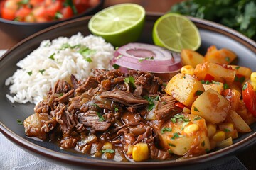
[[[0,28],[16,42],[29,35],[100,11],[104,0],[1,0]]]

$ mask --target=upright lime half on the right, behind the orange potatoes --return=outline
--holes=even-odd
[[[174,52],[182,49],[197,50],[201,45],[198,28],[186,16],[167,13],[154,23],[153,41],[155,45]]]

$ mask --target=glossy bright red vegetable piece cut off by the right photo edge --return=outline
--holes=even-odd
[[[248,82],[242,88],[242,100],[247,110],[256,118],[256,92],[253,91],[252,84]]]

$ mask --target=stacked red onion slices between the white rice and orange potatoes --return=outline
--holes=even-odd
[[[119,47],[110,64],[154,73],[178,72],[182,67],[178,53],[143,43]]]

